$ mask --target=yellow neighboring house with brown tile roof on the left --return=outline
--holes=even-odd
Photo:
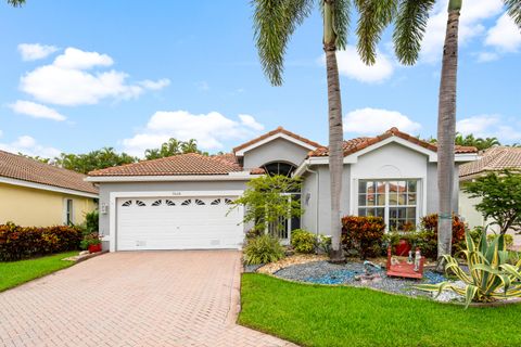
[[[81,223],[98,189],[86,176],[0,151],[0,223],[49,227]]]

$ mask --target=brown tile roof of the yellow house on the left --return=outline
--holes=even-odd
[[[98,194],[85,175],[0,151],[0,177]]]

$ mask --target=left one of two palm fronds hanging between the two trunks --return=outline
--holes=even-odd
[[[359,12],[357,50],[364,63],[377,62],[377,44],[397,12],[398,0],[355,0]]]

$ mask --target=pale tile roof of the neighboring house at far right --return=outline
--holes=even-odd
[[[521,170],[521,149],[496,146],[481,153],[481,158],[459,167],[459,177],[504,169]]]

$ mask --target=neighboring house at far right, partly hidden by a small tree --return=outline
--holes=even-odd
[[[478,160],[461,166],[459,181],[460,184],[465,184],[478,177],[490,172],[499,172],[504,169],[521,171],[521,147],[495,146],[484,151]],[[480,198],[471,198],[469,194],[459,191],[460,215],[470,228],[485,227],[492,221],[485,220],[483,215],[475,210],[474,206],[479,203]],[[497,227],[491,226],[491,231],[493,230],[497,230]],[[514,235],[514,246],[521,247],[521,235],[510,233]]]

